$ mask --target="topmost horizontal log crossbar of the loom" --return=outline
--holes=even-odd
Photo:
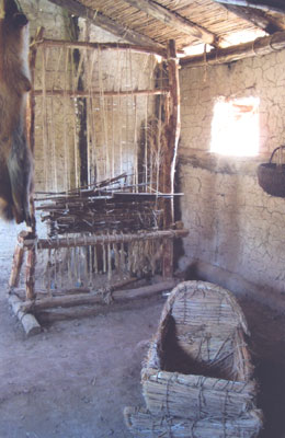
[[[167,58],[167,50],[161,47],[152,46],[139,46],[137,44],[125,44],[125,43],[87,43],[87,42],[70,42],[62,39],[42,39],[37,42],[38,45],[46,47],[66,47],[66,48],[87,48],[91,50],[132,50],[138,54],[159,55],[162,58]],[[183,51],[182,51],[183,53]]]

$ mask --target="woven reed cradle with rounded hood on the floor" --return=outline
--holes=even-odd
[[[262,427],[235,297],[205,281],[178,285],[141,370],[146,408],[126,407],[136,438],[253,438]]]

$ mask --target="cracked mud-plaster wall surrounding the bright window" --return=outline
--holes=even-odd
[[[225,269],[229,277],[240,276],[272,302],[283,302],[285,293],[285,199],[262,191],[256,168],[285,140],[284,68],[283,50],[206,70],[181,70],[179,177],[184,193],[182,220],[190,234],[180,267],[202,261]],[[260,97],[258,157],[209,152],[213,108],[219,96]],[[241,286],[235,289],[242,292]]]

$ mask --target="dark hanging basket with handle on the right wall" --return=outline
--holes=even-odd
[[[272,196],[285,198],[285,164],[273,163],[273,157],[277,150],[285,149],[285,146],[280,146],[274,149],[269,163],[262,163],[258,168],[259,185]]]

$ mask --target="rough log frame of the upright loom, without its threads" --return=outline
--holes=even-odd
[[[98,44],[98,43],[72,43],[72,42],[60,42],[52,39],[43,39],[42,33],[39,32],[32,45],[31,49],[31,72],[32,80],[35,72],[35,60],[37,47],[39,45],[47,46],[65,46],[65,47],[89,47],[89,48],[100,48],[102,50],[109,49],[132,49],[138,53],[157,54],[162,56],[168,62],[169,70],[169,88],[158,89],[158,90],[140,90],[122,92],[121,95],[136,95],[136,94],[149,94],[149,95],[167,95],[168,97],[168,139],[167,139],[167,153],[164,157],[162,173],[166,175],[164,178],[164,191],[169,194],[174,193],[174,171],[176,161],[176,150],[180,137],[180,85],[179,85],[179,60],[175,51],[175,42],[170,41],[167,50],[161,50],[158,53],[149,47],[132,46],[128,44]],[[61,95],[60,91],[52,92],[53,95]],[[66,93],[66,91],[65,91]],[[119,92],[107,92],[106,95],[118,95]],[[27,134],[30,137],[31,150],[34,152],[34,120],[35,120],[35,95],[37,92],[31,91],[29,100],[29,111],[27,111]],[[69,93],[70,96],[86,96],[87,92],[76,92]],[[174,220],[174,207],[173,207],[173,196],[166,198],[163,200],[164,209],[164,230],[155,232],[144,232],[134,234],[118,234],[118,235],[91,235],[84,237],[80,240],[77,239],[73,243],[65,238],[57,239],[56,241],[50,241],[49,239],[37,240],[36,235],[36,222],[34,216],[34,203],[31,198],[31,209],[33,212],[33,226],[29,231],[22,231],[18,237],[18,244],[14,251],[12,272],[9,280],[10,293],[9,302],[21,320],[23,327],[27,335],[36,334],[41,331],[41,326],[36,321],[33,312],[39,309],[50,309],[56,307],[72,307],[80,304],[102,304],[104,300],[98,293],[86,293],[86,295],[66,295],[60,297],[48,297],[38,299],[35,291],[35,265],[36,265],[36,251],[37,249],[55,249],[55,247],[67,247],[69,245],[84,246],[84,245],[95,245],[98,243],[112,243],[118,242],[132,242],[136,240],[156,240],[163,239],[163,256],[162,256],[162,281],[144,288],[128,289],[128,290],[117,290],[124,287],[129,281],[124,281],[115,285],[113,287],[114,295],[112,299],[114,301],[122,301],[141,297],[149,297],[153,293],[158,293],[162,290],[171,289],[175,281],[173,279],[173,240],[174,238],[182,238],[187,234],[185,230],[174,230],[170,229],[173,226]],[[172,227],[173,228],[173,227]],[[23,265],[24,254],[26,253],[26,272],[25,272],[25,300],[13,293],[14,288],[18,287],[20,280],[20,273]]]

